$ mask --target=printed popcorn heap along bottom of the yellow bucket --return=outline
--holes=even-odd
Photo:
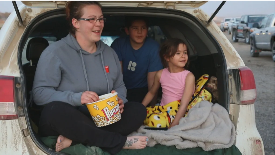
[[[103,127],[112,124],[116,121],[119,121],[121,119],[121,115],[120,113],[117,113],[113,117],[110,117],[109,121],[107,121],[106,117],[102,117],[100,115],[96,115],[96,117],[92,116],[92,119],[94,120],[96,126]]]

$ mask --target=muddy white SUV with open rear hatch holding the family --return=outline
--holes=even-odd
[[[0,154],[55,155],[39,140],[35,123],[39,110],[28,104],[28,92],[49,36],[57,41],[68,34],[66,1],[22,1],[18,8],[13,2],[15,11],[0,30]],[[159,27],[167,38],[187,42],[195,77],[210,74],[218,79],[219,104],[228,111],[237,132],[234,144],[243,155],[264,154],[255,123],[253,73],[212,21],[216,14],[210,17],[199,8],[207,1],[99,2],[107,18],[102,36],[125,35],[121,31],[124,16],[139,15],[147,16],[150,25]],[[31,37],[34,39],[28,41]]]

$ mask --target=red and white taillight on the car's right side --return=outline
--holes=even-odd
[[[256,84],[253,72],[248,67],[239,68],[241,78],[241,104],[253,104],[256,100]]]

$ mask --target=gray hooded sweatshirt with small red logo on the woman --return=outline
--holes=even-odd
[[[117,54],[101,40],[96,45],[95,53],[86,52],[71,34],[49,45],[37,64],[32,89],[34,103],[62,101],[81,106],[83,92],[92,91],[100,96],[112,90],[126,103],[127,90]]]

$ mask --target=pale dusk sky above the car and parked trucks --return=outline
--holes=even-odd
[[[215,12],[222,1],[209,1],[201,6],[201,9],[209,16]],[[17,5],[22,2],[16,1]],[[270,14],[274,13],[275,1],[226,1],[217,16],[233,17],[243,14]],[[13,11],[11,1],[0,1],[0,12]]]

